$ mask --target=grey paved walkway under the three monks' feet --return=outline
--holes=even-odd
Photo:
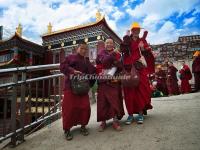
[[[96,105],[88,125],[90,135],[83,137],[74,128],[74,139],[66,141],[58,120],[26,138],[16,150],[200,150],[200,93],[152,99],[154,109],[145,122],[124,125],[116,132],[112,126],[97,131]],[[10,148],[6,148],[7,150]],[[13,149],[12,149],[13,150]]]

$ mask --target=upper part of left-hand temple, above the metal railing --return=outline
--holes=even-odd
[[[45,50],[41,45],[22,37],[22,26],[16,28],[15,34],[6,40],[0,40],[0,69],[42,65]],[[0,75],[0,84],[10,81],[9,76]]]

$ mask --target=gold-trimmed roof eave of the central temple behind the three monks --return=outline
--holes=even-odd
[[[104,16],[101,19],[99,19],[99,20],[97,20],[95,22],[91,22],[91,23],[87,23],[87,24],[82,24],[82,25],[78,25],[78,26],[74,26],[74,27],[70,27],[70,28],[65,28],[65,29],[62,29],[62,30],[57,30],[57,31],[53,31],[51,33],[45,33],[45,34],[42,35],[42,38],[50,37],[50,36],[55,36],[55,35],[63,34],[63,33],[67,33],[67,32],[73,32],[73,31],[80,30],[80,29],[90,28],[90,27],[93,27],[93,26],[98,26],[100,24],[105,25],[105,27],[107,27],[107,29],[111,33],[113,33],[115,35],[115,37],[119,41],[122,41],[121,38],[109,27],[109,25],[107,24],[106,19],[105,19]]]

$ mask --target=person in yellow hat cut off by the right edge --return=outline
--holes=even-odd
[[[196,54],[197,53],[197,54]],[[194,73],[195,91],[200,90],[200,51],[196,52],[192,63],[192,72]]]

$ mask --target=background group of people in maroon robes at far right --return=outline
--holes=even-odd
[[[165,67],[166,66],[166,67]],[[190,80],[194,74],[194,90],[192,91]],[[171,96],[199,91],[200,88],[200,52],[194,54],[192,71],[185,61],[181,61],[181,69],[178,70],[173,62],[158,65],[155,73],[150,75],[152,97]],[[180,81],[180,86],[178,85]]]

